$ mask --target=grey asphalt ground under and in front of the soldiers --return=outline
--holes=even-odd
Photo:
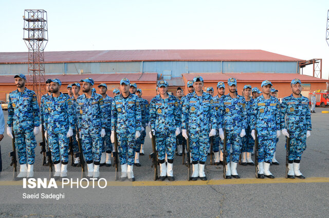
[[[101,167],[100,188],[92,181],[78,186],[57,188],[23,188],[23,181],[12,181],[9,166],[11,139],[5,135],[1,143],[3,172],[0,176],[0,217],[328,217],[329,212],[329,114],[316,108],[312,114],[313,131],[307,138],[307,149],[301,160],[306,179],[285,179],[285,138],[277,144],[279,166],[271,166],[275,179],[256,179],[252,166],[237,166],[240,179],[224,179],[222,166],[206,162],[207,181],[187,181],[187,167],[175,156],[175,181],[153,181],[153,168],[148,154],[151,140],[145,138],[141,167],[134,167],[136,181],[115,181],[114,167]],[[7,119],[7,112],[4,112]],[[149,130],[147,130],[149,131]],[[41,141],[38,135],[37,141]],[[39,145],[35,149],[35,176],[47,178],[49,167],[42,166]],[[113,159],[112,159],[113,160]],[[19,168],[17,168],[19,170]],[[68,166],[68,178],[80,178],[81,168]],[[49,181],[49,180],[48,180]],[[86,187],[86,188],[84,188]],[[39,198],[23,198],[38,194]],[[62,194],[61,199],[45,199],[42,195]]]

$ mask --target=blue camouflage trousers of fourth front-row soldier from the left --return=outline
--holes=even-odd
[[[136,151],[135,133],[117,133],[117,138],[120,165],[125,163],[131,166],[134,165]]]

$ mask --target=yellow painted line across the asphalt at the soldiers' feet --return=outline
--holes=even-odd
[[[62,183],[56,182],[58,185]],[[100,181],[100,186],[104,186],[104,181]],[[217,179],[207,181],[107,181],[107,186],[206,186],[206,185],[241,185],[241,184],[283,184],[283,183],[329,183],[329,177],[312,177],[306,179],[257,179],[257,178],[243,178],[243,179]],[[82,181],[83,186],[87,183]],[[89,186],[92,186],[92,181],[89,181]],[[97,181],[95,181],[97,186]],[[0,186],[23,186],[23,181],[0,181]],[[70,186],[65,185],[65,186]],[[76,185],[73,185],[76,187]]]

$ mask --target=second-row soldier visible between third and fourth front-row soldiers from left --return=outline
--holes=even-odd
[[[106,120],[105,124],[105,133],[106,135],[102,138],[102,156],[100,166],[106,165],[106,167],[111,167],[111,153],[113,150],[112,142],[111,142],[111,108],[113,98],[109,97],[107,92],[107,85],[105,83],[101,83],[98,85],[99,93],[102,95],[104,99],[104,107],[105,107],[105,117],[102,119]],[[105,149],[106,148],[106,149]],[[106,155],[105,155],[106,152]]]

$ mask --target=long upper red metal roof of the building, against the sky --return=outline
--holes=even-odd
[[[0,63],[27,63],[27,52],[0,52]],[[46,63],[132,61],[304,61],[264,50],[47,51]]]

